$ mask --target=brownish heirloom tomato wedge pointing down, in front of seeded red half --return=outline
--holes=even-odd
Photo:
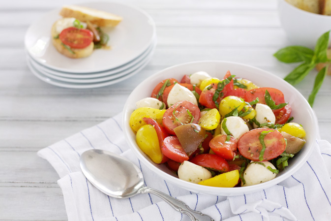
[[[186,124],[174,129],[188,157],[190,157],[204,141],[206,130],[197,124]]]

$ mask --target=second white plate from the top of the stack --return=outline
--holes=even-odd
[[[31,65],[35,67],[39,72],[43,73],[44,75],[51,77],[53,79],[57,79],[64,82],[73,82],[73,83],[93,83],[93,82],[102,82],[112,80],[121,76],[124,76],[131,71],[137,69],[140,65],[146,62],[149,59],[151,53],[154,52],[156,43],[150,46],[148,51],[144,53],[135,61],[133,65],[129,65],[128,67],[119,69],[118,72],[111,71],[102,71],[96,74],[63,74],[63,72],[57,72],[55,70],[51,70],[39,63],[35,62],[30,56],[28,56],[28,60],[30,61]],[[82,76],[82,77],[80,77]],[[87,77],[89,76],[89,77]]]

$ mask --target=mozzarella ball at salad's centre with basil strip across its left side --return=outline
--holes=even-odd
[[[244,134],[245,132],[248,132],[248,130],[249,130],[246,122],[244,120],[242,120],[241,117],[231,116],[231,117],[227,117],[224,119],[226,119],[226,122],[225,122],[226,128],[228,128],[228,130],[232,134],[232,136],[234,136],[237,139],[239,139],[242,136],[242,134]],[[222,126],[223,126],[224,119],[221,123]],[[227,135],[226,132],[224,131],[223,127],[221,127],[221,133]]]

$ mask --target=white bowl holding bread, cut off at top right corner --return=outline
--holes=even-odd
[[[289,40],[294,45],[313,49],[317,39],[331,30],[331,16],[304,11],[286,0],[278,0],[278,16]]]

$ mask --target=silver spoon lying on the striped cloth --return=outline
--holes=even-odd
[[[100,191],[115,198],[127,198],[138,193],[152,193],[192,221],[214,221],[210,216],[190,209],[184,202],[159,190],[144,187],[139,168],[131,161],[104,150],[89,150],[82,154],[83,174]]]

